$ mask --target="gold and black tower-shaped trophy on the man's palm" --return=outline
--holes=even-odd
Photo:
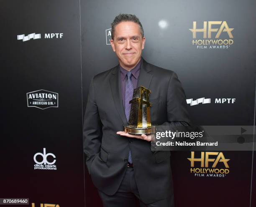
[[[134,135],[154,134],[156,127],[151,126],[151,116],[149,103],[150,90],[143,86],[133,90],[133,99],[129,102],[131,105],[128,126],[125,126],[125,132]]]

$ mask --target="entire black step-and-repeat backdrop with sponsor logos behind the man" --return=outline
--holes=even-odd
[[[110,23],[119,13],[140,18],[143,58],[178,74],[195,125],[255,124],[254,0],[0,3],[0,198],[102,206],[84,165],[82,119],[91,78],[118,64]],[[191,152],[172,152],[175,205],[256,206],[253,147],[218,151],[228,165],[210,163],[210,173],[192,168]]]

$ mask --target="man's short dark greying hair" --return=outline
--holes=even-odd
[[[142,24],[136,15],[132,14],[119,14],[115,17],[113,23],[111,23],[111,38],[114,40],[114,33],[115,33],[115,26],[118,25],[120,22],[134,22],[137,23],[141,28],[141,35],[142,38],[144,37],[144,30]]]

